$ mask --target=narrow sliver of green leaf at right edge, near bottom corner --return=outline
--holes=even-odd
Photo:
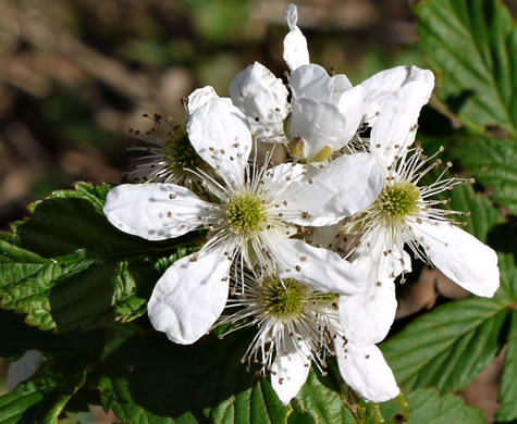
[[[496,413],[497,421],[517,420],[517,311],[513,312],[509,348],[504,359],[503,382],[498,400],[501,403]]]

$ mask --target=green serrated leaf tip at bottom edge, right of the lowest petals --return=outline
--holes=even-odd
[[[481,410],[467,407],[458,396],[440,396],[433,389],[419,389],[407,395],[409,421],[407,424],[487,424]],[[397,423],[398,406],[394,401],[382,403],[386,423]]]

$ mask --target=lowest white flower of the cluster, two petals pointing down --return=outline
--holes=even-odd
[[[346,383],[365,399],[382,402],[398,395],[393,373],[373,344],[357,345],[340,324],[338,296],[307,288],[303,280],[247,275],[242,294],[229,300],[238,310],[221,319],[233,326],[257,327],[243,362],[261,363],[259,374],[271,372],[271,384],[287,404],[309,374],[311,362],[322,371],[327,357],[336,354]]]

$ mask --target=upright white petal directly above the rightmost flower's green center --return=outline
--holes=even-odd
[[[415,141],[418,113],[415,115],[398,95],[387,99],[371,129],[370,145],[373,154],[385,165],[393,164]]]

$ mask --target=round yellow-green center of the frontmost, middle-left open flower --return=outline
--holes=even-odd
[[[262,229],[266,209],[259,196],[250,192],[237,194],[226,204],[226,219],[236,234],[253,234]]]

